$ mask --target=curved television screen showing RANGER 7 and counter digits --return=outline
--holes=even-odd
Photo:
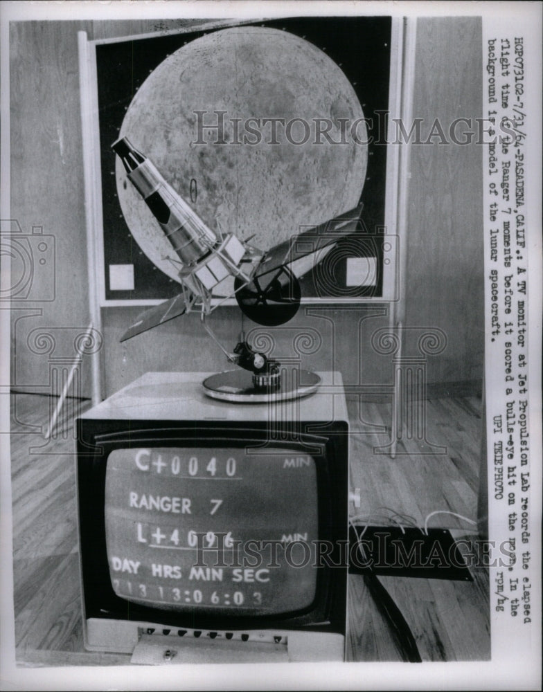
[[[266,616],[315,599],[317,468],[293,450],[154,447],[107,459],[114,592],[179,612]]]

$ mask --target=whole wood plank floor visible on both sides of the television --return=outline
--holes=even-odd
[[[126,664],[124,655],[84,651],[75,507],[73,418],[88,402],[68,401],[62,432],[43,437],[56,399],[11,395],[12,518],[17,662],[26,666]],[[386,404],[348,402],[350,482],[360,489],[367,520],[385,525],[390,512],[409,514],[421,526],[431,511],[450,510],[477,518],[480,399],[425,402],[424,440],[398,444],[397,455],[380,453],[390,437]],[[428,444],[430,443],[430,444]],[[432,447],[431,445],[434,445]],[[420,451],[445,447],[442,453]],[[363,509],[362,509],[363,508]],[[372,521],[372,518],[380,521]],[[366,519],[362,521],[364,523]],[[431,527],[474,537],[474,527],[438,515]],[[466,530],[468,529],[468,530]],[[472,570],[474,581],[382,576],[416,639],[423,660],[490,658],[488,574]],[[349,580],[348,660],[401,661],[402,652],[364,579]]]

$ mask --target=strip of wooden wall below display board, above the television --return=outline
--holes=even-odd
[[[103,309],[108,396],[148,370],[211,372],[233,367],[207,336],[195,313],[165,322],[157,329],[119,343],[131,320],[134,321],[140,312],[138,307]],[[371,335],[373,331],[386,327],[388,318],[379,312],[375,316],[369,314],[368,317],[365,307],[342,310],[301,306],[296,317],[286,325],[267,328],[247,318],[242,322],[238,307],[220,307],[208,319],[208,324],[227,349],[232,349],[238,342],[243,324],[251,341],[258,335],[267,335],[266,343],[274,344],[269,355],[280,362],[299,362],[301,367],[310,370],[339,370],[348,385],[386,384],[392,377],[390,356],[373,351]],[[315,350],[310,347],[296,352],[294,339],[303,334],[316,340]]]

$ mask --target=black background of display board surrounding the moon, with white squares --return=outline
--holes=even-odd
[[[290,32],[314,44],[328,55],[352,84],[368,120],[368,157],[362,191],[364,209],[357,235],[344,239],[323,260],[319,271],[303,277],[302,298],[382,298],[385,189],[387,168],[386,127],[391,80],[390,17],[303,17],[259,21],[265,26]],[[240,27],[242,30],[243,27]],[[180,285],[157,269],[141,252],[128,228],[116,189],[112,143],[118,138],[123,118],[136,91],[154,69],[184,44],[210,31],[157,35],[96,45],[98,78],[98,126],[100,133],[101,195],[103,215],[103,282],[105,300],[142,301],[171,298]],[[362,184],[361,184],[362,187]],[[189,203],[191,199],[187,199]],[[195,210],[198,211],[197,203]],[[345,210],[347,211],[347,210]],[[268,248],[262,248],[264,250]],[[374,271],[371,285],[357,286],[348,280],[346,257],[370,257]],[[389,263],[391,260],[386,260]],[[110,285],[110,265],[133,265],[133,289]],[[351,264],[357,271],[357,264]]]

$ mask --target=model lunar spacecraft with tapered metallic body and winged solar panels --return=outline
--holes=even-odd
[[[117,140],[112,149],[168,238],[174,253],[168,259],[179,267],[181,283],[179,295],[141,313],[121,341],[199,311],[206,331],[228,360],[253,372],[255,386],[273,386],[277,363],[254,352],[244,339],[228,352],[206,325],[205,317],[224,300],[235,297],[242,312],[260,325],[272,327],[292,319],[301,301],[299,278],[321,262],[341,238],[357,231],[362,204],[301,233],[293,229],[290,239],[260,251],[249,244],[250,238],[217,235],[128,138]],[[214,291],[228,281],[231,294],[217,298]]]

